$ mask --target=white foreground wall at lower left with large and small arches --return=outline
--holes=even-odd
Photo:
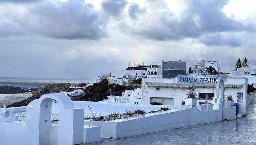
[[[58,124],[52,124],[52,102],[58,102]],[[14,108],[24,111],[24,107]],[[26,122],[10,108],[0,109],[0,145],[76,145],[101,141],[100,126],[84,126],[84,109],[68,95],[44,94],[26,107]]]

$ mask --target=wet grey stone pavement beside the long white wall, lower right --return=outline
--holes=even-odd
[[[231,121],[217,121],[156,133],[109,139],[89,145],[256,145],[256,99],[247,115]]]

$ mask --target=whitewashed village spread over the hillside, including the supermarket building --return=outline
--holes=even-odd
[[[221,66],[216,60],[201,60],[200,63],[190,67],[191,71],[186,70],[186,62],[178,60],[152,62],[149,66],[128,66],[126,70],[120,72],[93,77],[87,86],[107,79],[109,84],[132,87],[131,90],[123,89],[124,92],[119,93],[119,95],[108,93],[107,97],[100,100],[103,102],[134,104],[158,102],[162,105],[178,106],[184,105],[184,97],[186,97],[188,91],[195,91],[198,96],[198,104],[209,104],[215,96],[216,84],[213,82],[180,82],[178,80],[179,75],[198,75],[197,72],[203,72],[209,67],[216,69],[218,75],[215,75],[215,80],[218,77],[224,78],[225,95],[232,95],[235,102],[242,103],[243,97],[241,96],[248,94],[246,83],[252,84],[252,86],[256,83],[254,78],[256,66],[254,65],[248,65],[245,68],[232,68],[231,72],[222,72]],[[206,74],[206,80],[208,76],[210,75]],[[82,91],[76,95],[81,93]],[[72,94],[70,93],[70,95]]]

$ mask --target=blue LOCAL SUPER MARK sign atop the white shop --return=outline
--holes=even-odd
[[[194,75],[178,75],[178,83],[217,83],[222,77],[226,83],[226,76],[209,75],[206,72],[196,72]]]

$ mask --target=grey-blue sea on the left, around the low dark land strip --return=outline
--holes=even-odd
[[[22,78],[22,77],[0,77],[0,85],[13,87],[42,87],[42,85],[53,85],[58,83],[88,83],[88,79],[46,79],[46,78]],[[0,108],[11,105],[32,96],[32,93],[0,94]]]

